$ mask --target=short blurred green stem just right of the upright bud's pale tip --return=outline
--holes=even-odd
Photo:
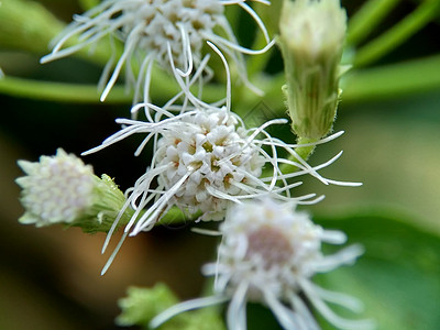
[[[400,0],[369,0],[349,20],[346,43],[355,46],[384,20]]]

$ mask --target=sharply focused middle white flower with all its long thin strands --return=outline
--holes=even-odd
[[[209,45],[212,46],[210,43]],[[213,50],[220,54],[216,47]],[[329,162],[312,167],[295,152],[298,145],[287,144],[265,131],[268,125],[287,123],[286,119],[271,120],[260,128],[248,130],[240,117],[230,111],[229,69],[224,57],[221,58],[229,82],[226,106],[208,105],[196,98],[189,90],[194,79],[184,81],[173,66],[173,73],[182,87],[182,92],[177,96],[185,96],[184,105],[174,105],[176,98],[163,108],[139,103],[132,111],[144,108],[146,121],[117,119],[117,123],[122,124],[123,129],[106,139],[101,145],[82,153],[86,155],[100,151],[136,133],[146,136],[135,155],[140,155],[150,141],[154,142],[151,166],[125,193],[128,201],[121,215],[130,207],[135,210],[134,215],[102,273],[110,266],[129,233],[136,235],[141,231],[151,230],[174,206],[191,218],[200,211],[198,220],[221,220],[231,204],[241,204],[243,199],[268,194],[274,194],[277,199],[296,200],[298,204],[315,204],[321,200],[323,196],[315,198],[316,194],[295,198],[290,196],[290,190],[301,185],[301,182],[292,183],[289,179],[300,175],[312,175],[326,185],[359,185],[327,179],[317,173],[318,169],[333,163],[341,153]],[[197,76],[197,73],[195,75]],[[173,111],[177,111],[178,114],[174,114]],[[341,133],[310,145],[326,143]],[[278,156],[280,152],[295,161]],[[295,166],[298,170],[283,173],[282,165]],[[261,177],[263,167],[270,170],[270,174]],[[157,187],[154,187],[155,184]],[[118,223],[117,218],[102,251],[107,249]]]

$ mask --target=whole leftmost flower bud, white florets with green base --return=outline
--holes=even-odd
[[[90,165],[62,148],[36,163],[18,163],[26,174],[15,180],[23,189],[20,200],[25,212],[19,219],[21,223],[64,223],[85,232],[107,232],[125,204],[124,195],[109,176],[97,177]],[[132,210],[127,210],[120,226],[131,216]]]

